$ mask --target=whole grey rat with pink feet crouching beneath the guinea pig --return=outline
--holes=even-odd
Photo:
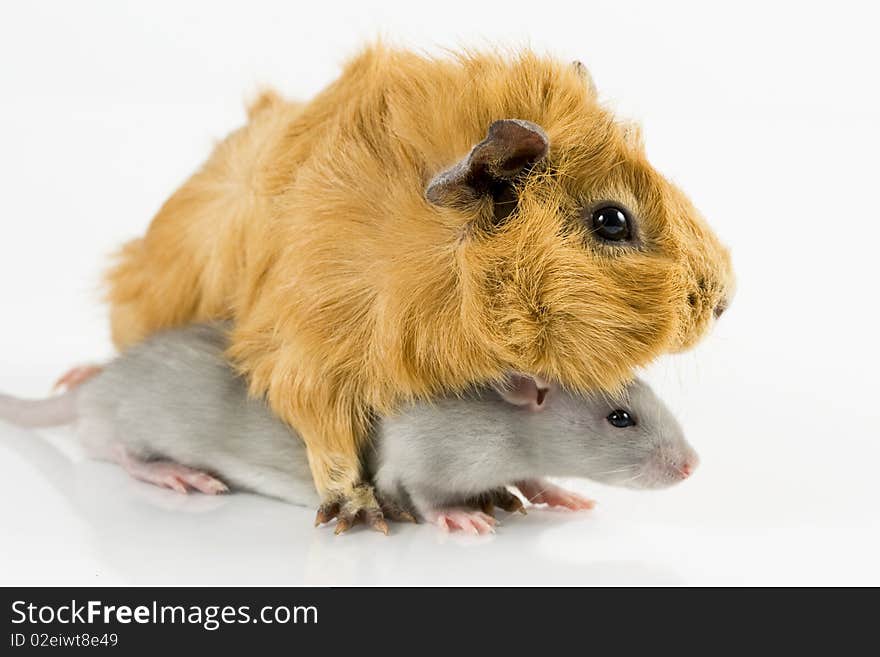
[[[185,492],[249,490],[313,505],[305,445],[224,357],[227,327],[156,334],[62,395],[0,395],[0,418],[23,426],[76,421],[87,452],[134,477]],[[365,467],[392,517],[414,512],[446,529],[484,533],[475,505],[517,508],[506,486],[533,502],[588,508],[544,481],[584,477],[633,488],[686,478],[697,456],[675,417],[635,380],[618,398],[574,395],[512,376],[455,397],[405,406],[374,424]]]

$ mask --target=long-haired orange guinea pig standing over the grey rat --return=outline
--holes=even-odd
[[[264,94],[107,280],[121,349],[234,322],[228,357],[346,525],[381,518],[359,458],[374,415],[511,371],[619,391],[733,288],[583,66],[381,45],[309,102]]]

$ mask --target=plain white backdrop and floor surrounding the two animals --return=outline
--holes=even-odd
[[[708,339],[647,373],[702,456],[677,489],[581,483],[594,512],[483,540],[334,538],[311,509],[183,498],[83,461],[64,431],[3,425],[0,584],[880,584],[877,16],[713,4],[4,2],[4,391],[109,356],[108,254],[260,85],[307,98],[379,34],[585,62],[731,246],[739,286]]]

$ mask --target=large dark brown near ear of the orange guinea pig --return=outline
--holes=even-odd
[[[502,119],[460,162],[437,174],[425,190],[433,204],[464,206],[481,196],[495,202],[502,220],[516,208],[512,181],[547,155],[549,141],[540,126],[520,119]]]

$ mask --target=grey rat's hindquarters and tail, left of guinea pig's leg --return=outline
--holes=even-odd
[[[24,426],[76,421],[90,456],[181,492],[231,487],[317,503],[302,441],[248,396],[223,357],[225,329],[163,331],[58,397],[0,396],[0,418]]]

